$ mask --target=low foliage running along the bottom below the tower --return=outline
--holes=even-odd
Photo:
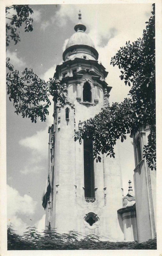
[[[95,234],[82,236],[75,231],[59,234],[55,230],[38,232],[35,227],[27,228],[23,236],[15,234],[12,226],[7,228],[8,250],[155,250],[156,239],[144,243],[99,241]]]

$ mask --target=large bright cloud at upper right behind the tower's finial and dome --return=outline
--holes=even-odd
[[[57,26],[65,26],[68,20],[77,23],[77,13],[81,10],[82,23],[86,25],[88,35],[92,38],[99,62],[109,72],[106,82],[112,86],[110,103],[121,102],[128,97],[129,86],[125,86],[119,76],[118,67],[110,66],[113,57],[126,41],[133,42],[142,37],[145,22],[151,15],[151,4],[66,4],[61,5],[52,17]],[[103,19],[104,17],[104,19]],[[115,17],[115,18],[114,18]],[[63,50],[68,39],[64,41]],[[120,90],[120,93],[119,93]]]

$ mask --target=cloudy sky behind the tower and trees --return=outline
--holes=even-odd
[[[110,66],[111,57],[124,46],[142,37],[145,22],[152,11],[151,4],[65,4],[30,5],[33,9],[33,31],[20,28],[20,42],[7,48],[15,69],[26,67],[45,81],[53,77],[56,65],[63,62],[62,54],[78,22],[78,11],[86,33],[92,38],[98,61],[109,72],[106,82],[112,86],[110,104],[121,102],[130,90],[120,80],[118,67]],[[11,13],[12,14],[12,13]],[[24,27],[24,26],[23,26]],[[7,220],[18,234],[28,226],[44,229],[45,211],[42,193],[48,176],[48,127],[53,124],[53,105],[47,121],[22,118],[14,113],[13,103],[6,99],[7,119]],[[120,158],[124,196],[128,181],[133,182],[134,152],[132,139],[120,143]]]

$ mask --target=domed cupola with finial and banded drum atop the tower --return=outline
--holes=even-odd
[[[86,27],[81,22],[81,13],[79,11],[79,22],[75,25],[75,33],[70,37],[66,49],[63,52],[63,60],[74,60],[83,58],[86,60],[98,60],[98,52],[90,36],[85,33]]]

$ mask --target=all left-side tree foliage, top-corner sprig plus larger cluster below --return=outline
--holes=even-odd
[[[10,10],[16,11],[10,17]],[[33,31],[33,19],[30,15],[33,10],[28,5],[12,5],[6,7],[6,18],[11,20],[10,24],[6,23],[6,46],[9,46],[10,39],[17,44],[20,41],[19,32],[17,28],[21,27],[23,23],[26,24],[25,32]],[[7,94],[9,100],[14,103],[15,112],[21,114],[22,117],[28,117],[32,122],[36,123],[37,117],[41,121],[46,120],[48,115],[48,108],[51,105],[49,95],[53,96],[53,100],[64,103],[65,96],[62,93],[62,86],[60,81],[55,78],[50,78],[46,83],[38,77],[32,68],[25,68],[24,71],[14,70],[10,63],[10,58],[6,58],[6,68],[8,69],[6,75]]]

